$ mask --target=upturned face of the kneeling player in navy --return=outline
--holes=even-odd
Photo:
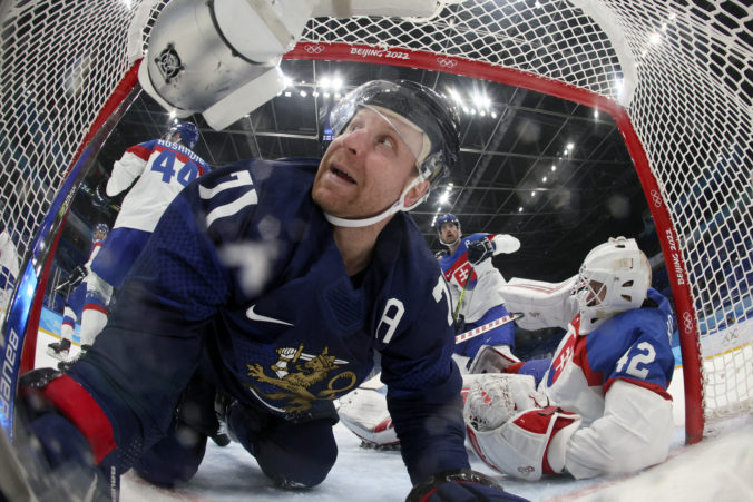
[[[383,211],[417,176],[414,152],[422,145],[422,132],[408,122],[393,116],[388,122],[361,108],[322,158],[312,190],[314,201],[341,218]]]

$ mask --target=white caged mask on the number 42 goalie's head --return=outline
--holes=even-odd
[[[638,308],[646,299],[652,270],[635,239],[609,238],[588,253],[573,294],[586,335],[620,312]]]

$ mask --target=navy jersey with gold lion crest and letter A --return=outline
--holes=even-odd
[[[226,392],[303,421],[354,390],[379,351],[411,479],[468,466],[449,292],[436,258],[400,213],[369,267],[349,277],[311,198],[316,166],[238,163],[197,179],[165,211],[82,360],[89,364],[71,371],[116,435],[131,435],[116,437],[120,447],[167,426],[203,355]]]

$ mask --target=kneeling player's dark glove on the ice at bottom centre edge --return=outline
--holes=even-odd
[[[436,474],[413,486],[405,502],[525,502],[526,499],[507,493],[491,478],[470,469]]]

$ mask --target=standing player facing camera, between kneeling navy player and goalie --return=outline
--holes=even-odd
[[[437,235],[448,248],[439,257],[439,265],[452,293],[456,332],[467,332],[508,315],[505,299],[499,294],[505,278],[491,258],[500,253],[517,252],[520,240],[507,234],[471,234],[462,237],[460,220],[451,214],[437,218]],[[497,346],[512,356],[514,324],[507,323],[457,344],[456,361],[462,372],[467,372],[481,345]]]

